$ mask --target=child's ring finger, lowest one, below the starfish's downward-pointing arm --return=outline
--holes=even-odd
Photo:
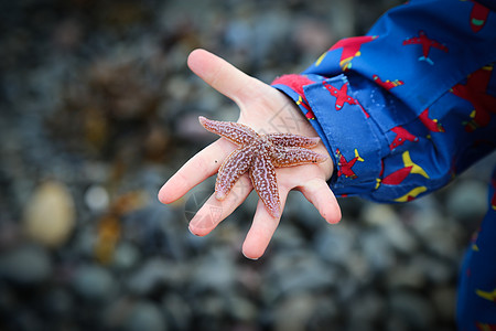
[[[281,199],[281,210],[284,210],[288,190],[279,192]],[[261,200],[258,201],[257,211],[255,212],[254,223],[242,244],[242,254],[249,259],[258,259],[266,252],[272,238],[276,228],[281,218],[272,217]]]

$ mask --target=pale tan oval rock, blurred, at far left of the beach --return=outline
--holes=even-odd
[[[48,181],[33,193],[24,211],[23,228],[29,237],[48,247],[64,244],[75,225],[74,201],[67,188]]]

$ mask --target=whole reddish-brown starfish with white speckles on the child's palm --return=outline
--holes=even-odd
[[[211,120],[203,116],[198,119],[205,129],[238,146],[223,161],[217,172],[215,197],[225,199],[238,179],[248,172],[255,191],[274,218],[281,216],[276,168],[320,163],[327,159],[310,150],[319,143],[320,138],[316,137],[259,135],[242,124]]]

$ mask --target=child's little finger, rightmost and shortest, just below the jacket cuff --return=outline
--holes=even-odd
[[[341,209],[336,196],[322,179],[312,179],[305,182],[299,190],[321,213],[322,217],[331,224],[341,221]]]

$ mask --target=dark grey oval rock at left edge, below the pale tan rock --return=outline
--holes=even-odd
[[[19,285],[36,285],[52,274],[52,260],[43,247],[25,245],[0,255],[0,278]]]

